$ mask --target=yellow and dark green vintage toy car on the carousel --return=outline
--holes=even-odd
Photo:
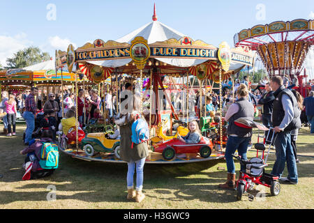
[[[82,139],[81,148],[92,157],[96,153],[114,153],[115,157],[120,159],[120,140],[110,139],[108,134],[114,134],[113,130],[109,129],[106,132],[95,132],[87,134],[87,137]]]

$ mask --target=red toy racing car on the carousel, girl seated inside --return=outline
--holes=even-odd
[[[163,153],[165,160],[172,160],[176,153],[200,153],[200,156],[207,158],[211,155],[213,143],[206,137],[201,137],[198,144],[186,144],[179,139],[170,139],[160,144],[151,146],[151,150]]]

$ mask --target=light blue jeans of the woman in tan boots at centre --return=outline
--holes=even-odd
[[[135,166],[136,166],[136,190],[142,190],[145,160],[146,158],[142,158],[141,160],[137,160],[135,162],[128,162],[128,175],[126,177],[128,190],[133,189],[133,176]]]

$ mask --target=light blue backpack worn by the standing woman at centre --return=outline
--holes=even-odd
[[[138,118],[132,124],[132,147],[133,144],[142,144],[149,140],[149,126],[143,118]]]

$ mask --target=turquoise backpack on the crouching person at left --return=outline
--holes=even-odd
[[[43,169],[57,169],[59,166],[59,151],[56,144],[50,142],[43,143],[39,160]]]

